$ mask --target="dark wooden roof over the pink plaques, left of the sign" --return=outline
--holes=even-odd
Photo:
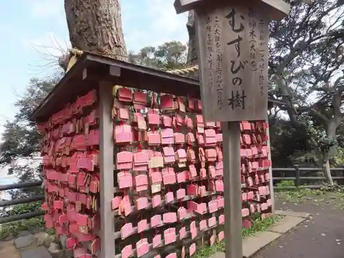
[[[74,102],[77,96],[83,96],[92,89],[96,89],[100,81],[177,96],[200,98],[200,83],[193,78],[84,52],[52,89],[52,92],[32,112],[30,120],[36,122],[48,120],[67,103]],[[269,102],[271,104],[274,100],[269,100]]]

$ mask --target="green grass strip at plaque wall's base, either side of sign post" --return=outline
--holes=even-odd
[[[251,235],[255,235],[255,233],[258,233],[260,231],[265,231],[270,226],[275,225],[277,222],[281,221],[283,216],[276,215],[275,217],[268,217],[264,220],[261,220],[261,218],[255,219],[255,221],[252,223],[252,226],[250,228],[244,228],[242,230],[242,237],[250,237]],[[196,252],[196,254],[193,256],[195,258],[208,258],[211,257],[211,255],[214,255],[216,252],[224,252],[224,246],[225,241],[220,241],[219,243],[214,244],[213,246],[204,246],[200,250]]]

